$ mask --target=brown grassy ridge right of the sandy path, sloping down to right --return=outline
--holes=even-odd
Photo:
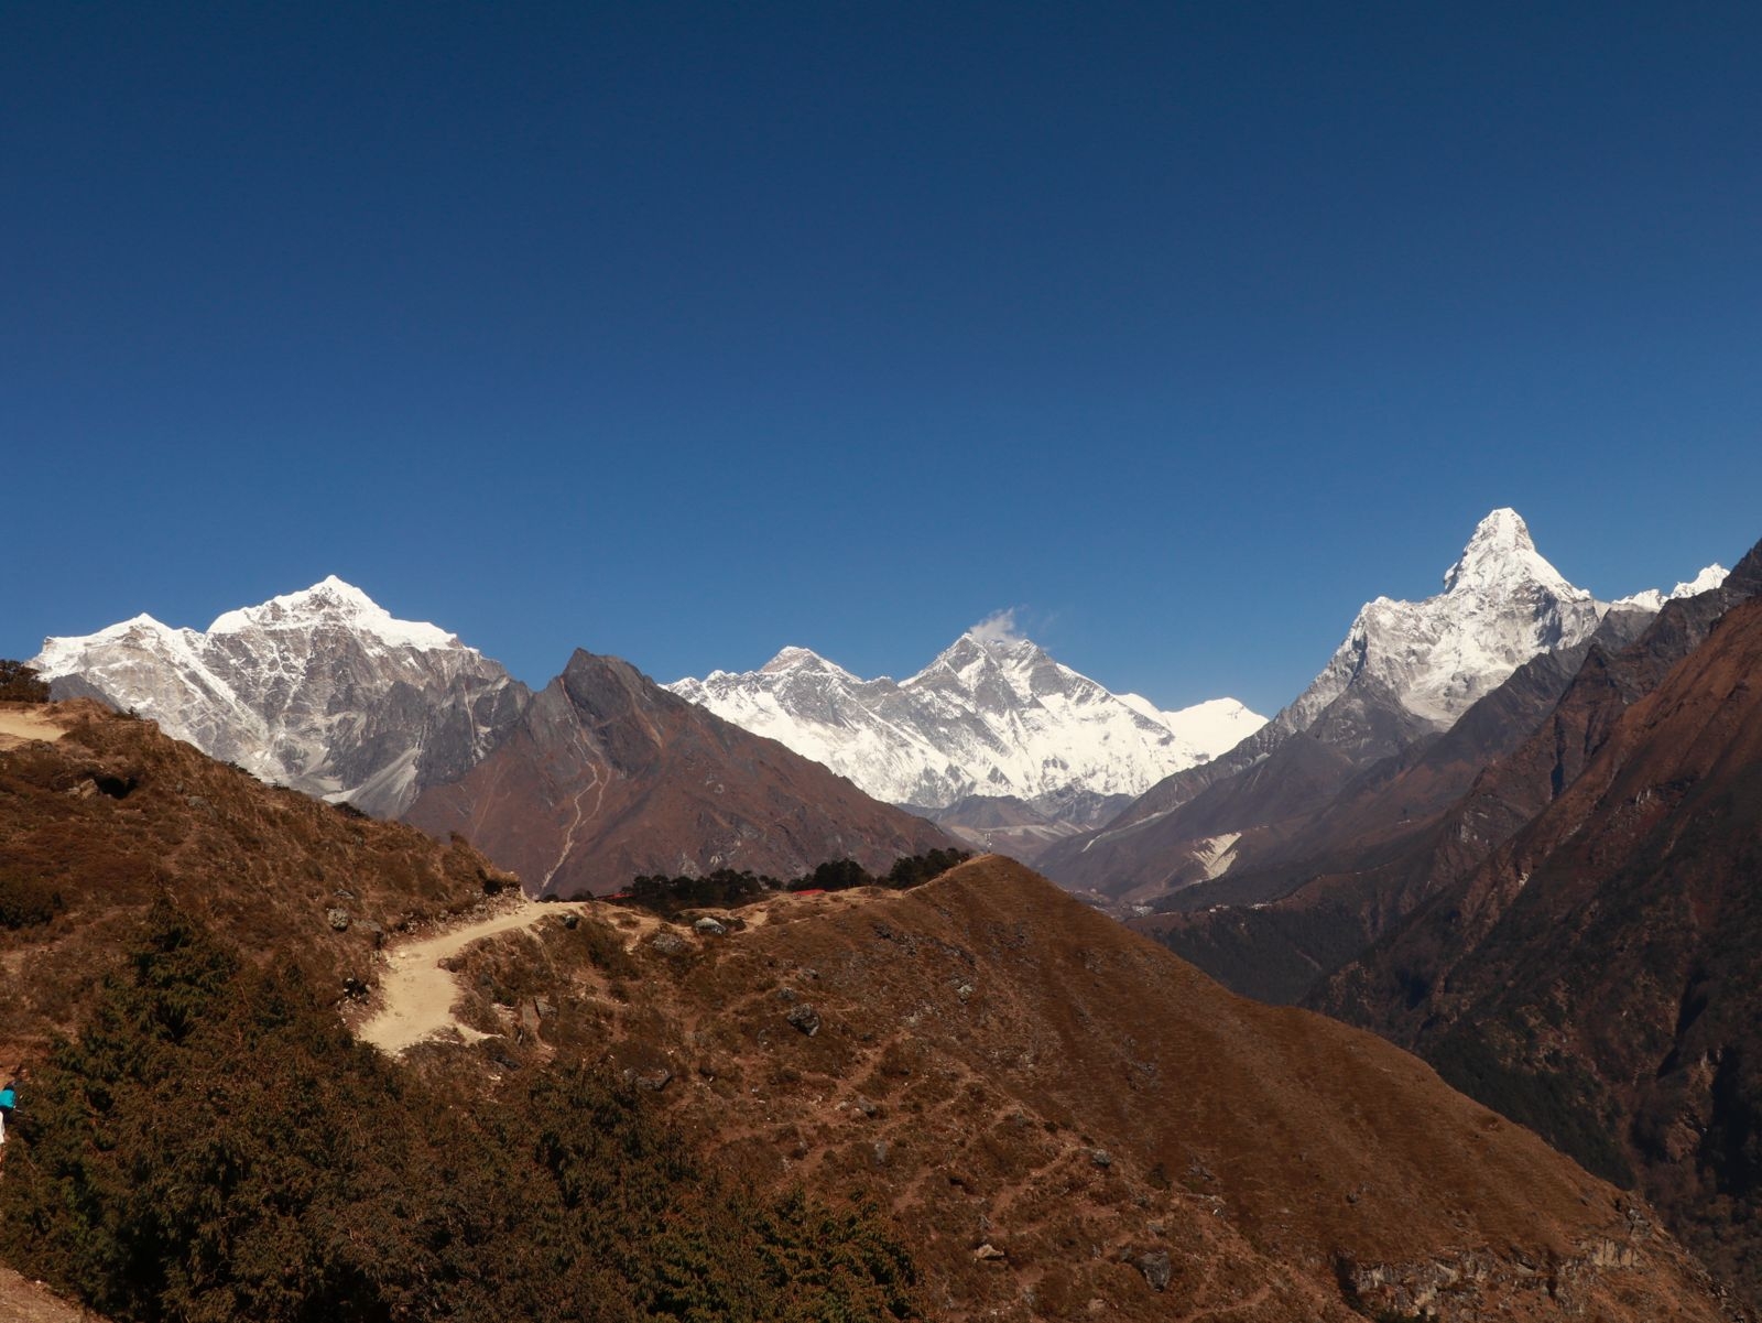
[[[1720,1316],[1640,1205],[1422,1062],[1010,860],[726,937],[604,913],[467,957],[478,1052],[610,1057],[758,1179],[872,1193],[936,1318]]]

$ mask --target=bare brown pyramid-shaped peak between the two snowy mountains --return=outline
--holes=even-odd
[[[855,858],[886,870],[953,840],[818,763],[576,652],[515,729],[405,819],[460,831],[530,893],[592,895],[641,874],[798,876]]]

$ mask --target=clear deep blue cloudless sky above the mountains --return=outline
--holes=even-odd
[[[1017,608],[1270,712],[1494,506],[1762,537],[1762,5],[0,7],[0,655],[337,573],[543,682]]]

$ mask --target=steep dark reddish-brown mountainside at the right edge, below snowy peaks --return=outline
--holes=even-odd
[[[1758,567],[1751,553],[1727,592],[1755,592]],[[1477,787],[1540,798],[1538,816],[1316,1002],[1593,1168],[1635,1175],[1755,1300],[1762,602],[1720,615],[1707,597],[1588,659],[1536,740]]]

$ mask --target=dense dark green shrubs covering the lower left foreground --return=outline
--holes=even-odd
[[[589,1068],[425,1083],[164,904],[16,1140],[0,1256],[130,1323],[913,1312],[872,1208],[737,1187]]]

